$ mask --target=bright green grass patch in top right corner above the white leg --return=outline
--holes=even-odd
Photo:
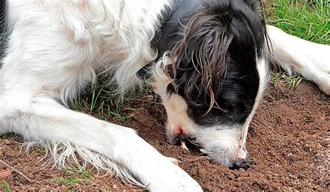
[[[270,0],[269,24],[290,35],[330,44],[330,0]]]

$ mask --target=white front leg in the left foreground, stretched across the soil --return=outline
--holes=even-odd
[[[13,131],[28,141],[63,143],[97,152],[129,170],[152,191],[201,191],[198,183],[173,159],[157,152],[132,129],[70,111],[49,97],[32,97],[29,104],[17,106],[10,101],[17,102],[19,96],[3,96],[0,129]]]

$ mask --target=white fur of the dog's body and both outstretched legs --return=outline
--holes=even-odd
[[[8,0],[11,33],[0,70],[0,134],[15,132],[26,141],[41,143],[49,149],[57,166],[66,166],[67,157],[77,159],[77,152],[96,168],[113,170],[153,191],[201,191],[201,186],[175,166],[173,159],[159,154],[132,129],[65,107],[86,84],[96,81],[99,72],[114,72],[122,92],[134,86],[136,71],[156,56],[150,40],[162,10],[170,3]],[[329,90],[329,67],[324,62],[317,63],[320,60],[313,61],[315,56],[324,61],[327,51],[290,38],[297,41],[294,45],[306,44],[325,53],[309,54],[308,49],[282,44],[278,38],[283,35],[281,31],[269,30],[269,35],[276,60],[288,58],[283,51],[290,51],[287,60],[302,67],[294,67],[294,71],[306,74],[324,91]],[[294,49],[303,49],[307,54],[303,58],[313,59],[302,65],[301,54]],[[317,70],[308,72],[313,66]],[[318,72],[325,74],[318,78]],[[203,142],[212,145],[208,143],[210,139]]]

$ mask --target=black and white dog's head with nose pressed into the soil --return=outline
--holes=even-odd
[[[152,86],[171,143],[194,138],[213,161],[246,168],[249,122],[267,84],[265,23],[256,1],[206,2],[177,22],[173,46],[161,41],[171,49],[151,67]]]

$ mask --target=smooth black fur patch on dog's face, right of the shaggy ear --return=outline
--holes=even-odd
[[[230,59],[226,63],[226,74],[223,74],[221,93],[216,97],[217,106],[203,116],[208,106],[189,104],[189,115],[198,125],[242,124],[253,109],[259,86],[255,50],[259,56],[262,54],[265,26],[260,13],[245,3],[235,0],[222,4],[226,4],[226,10],[219,7],[220,11],[228,11],[233,16],[228,24],[228,33],[233,34],[228,50]],[[207,97],[195,99],[210,100]]]

